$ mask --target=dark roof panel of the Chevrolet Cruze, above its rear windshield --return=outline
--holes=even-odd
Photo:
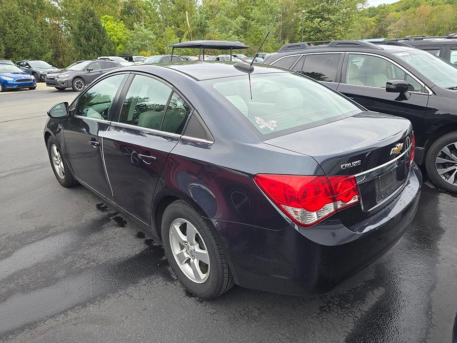
[[[205,62],[205,61],[186,61],[180,63],[162,63],[161,65],[141,65],[138,66],[144,71],[150,69],[147,68],[168,68],[192,77],[195,80],[208,80],[208,79],[219,79],[232,76],[247,76],[248,74],[242,72],[234,67],[233,63],[230,62]],[[265,74],[265,73],[287,73],[287,71],[269,66],[269,65],[256,65],[254,67],[253,74]]]

